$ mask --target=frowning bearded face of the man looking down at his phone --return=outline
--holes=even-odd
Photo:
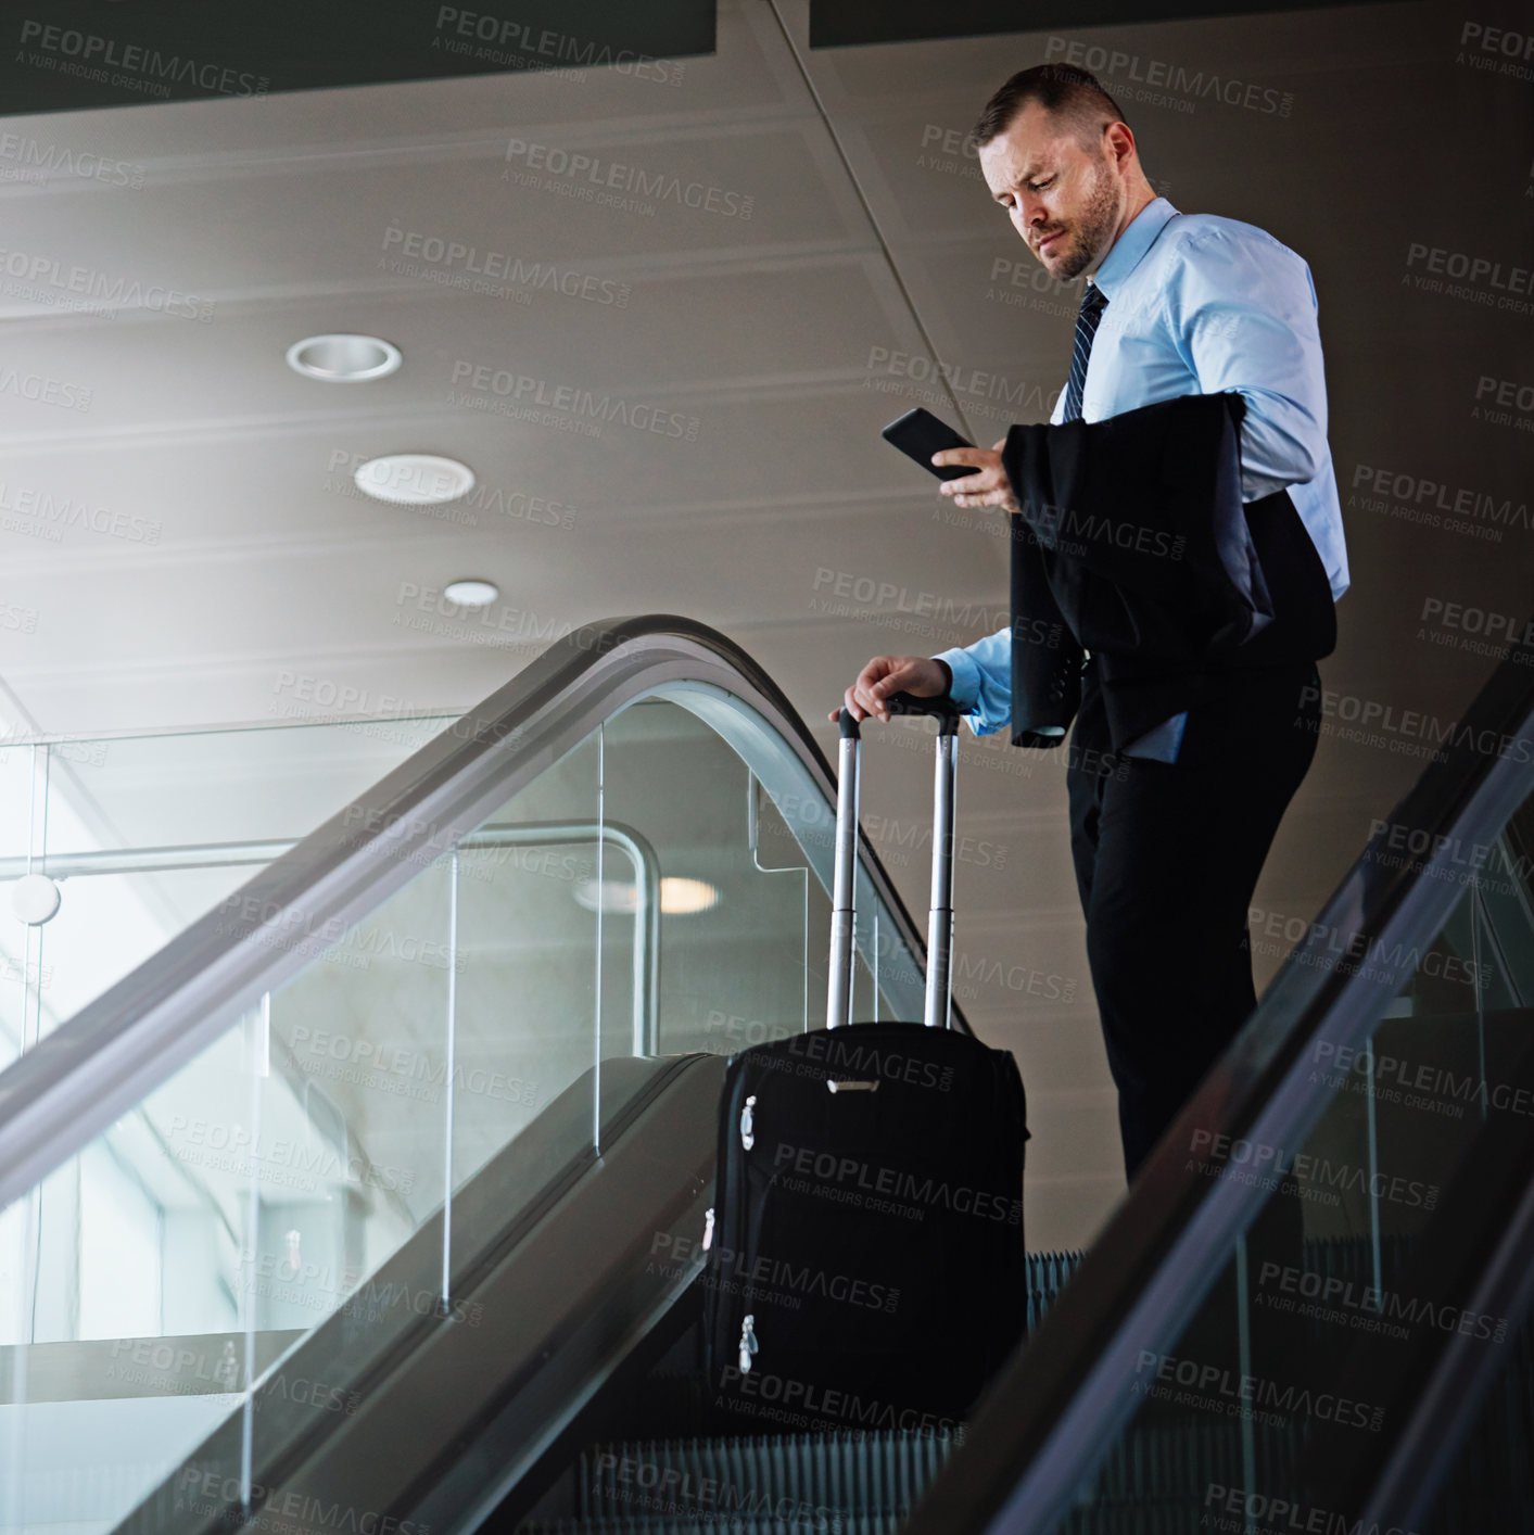
[[[1129,196],[1106,129],[1089,147],[1069,120],[1029,101],[981,147],[980,169],[1050,276],[1064,281],[1098,269]]]

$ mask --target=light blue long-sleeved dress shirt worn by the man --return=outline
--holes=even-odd
[[[1327,447],[1327,382],[1310,267],[1255,224],[1146,204],[1095,276],[1107,309],[1092,342],[1083,421],[1103,421],[1179,394],[1238,390],[1241,499],[1288,490],[1327,568],[1333,599],[1348,589],[1342,508]],[[1055,401],[1052,422],[1066,410]],[[1012,631],[941,651],[952,697],[977,735],[1012,714]],[[1126,748],[1176,761],[1187,714]]]

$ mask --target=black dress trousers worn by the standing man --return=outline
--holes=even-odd
[[[1070,850],[1133,1177],[1256,1005],[1247,910],[1316,754],[1321,686],[1308,660],[1231,671],[1159,763],[1112,751],[1096,659],[1081,682]]]

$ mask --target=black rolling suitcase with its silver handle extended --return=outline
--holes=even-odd
[[[860,749],[843,709],[826,1027],[734,1056],[720,1104],[703,1334],[714,1408],[742,1431],[958,1432],[1023,1332],[1023,1082],[950,1027],[958,715],[900,701],[938,715],[926,1022],[843,1027]]]

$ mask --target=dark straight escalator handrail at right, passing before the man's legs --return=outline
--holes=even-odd
[[[1239,1147],[1304,1144],[1330,1102],[1310,1082],[1313,1051],[1362,1045],[1413,947],[1463,893],[1465,849],[1491,844],[1534,794],[1534,646],[1509,651],[1453,741],[1377,824],[901,1535],[1036,1535],[1067,1515],[1133,1415],[1139,1351],[1175,1346],[1268,1196],[1241,1180]],[[1347,961],[1359,950],[1374,962]],[[1222,1176],[1233,1164],[1238,1176]]]

